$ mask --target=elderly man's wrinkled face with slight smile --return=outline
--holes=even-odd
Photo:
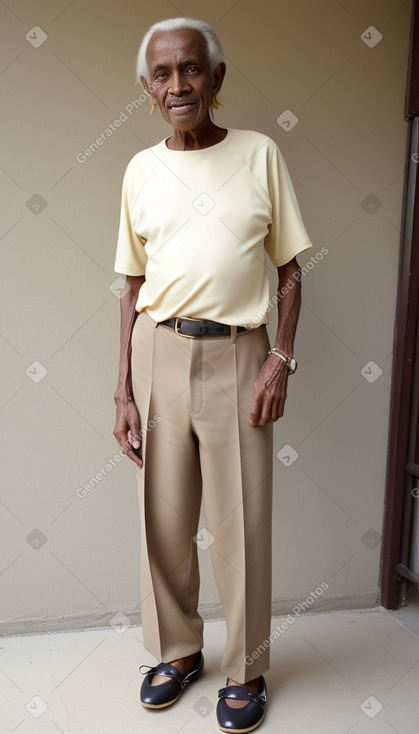
[[[220,88],[220,64],[210,71],[205,39],[196,30],[158,31],[147,49],[148,89],[164,119],[178,130],[195,129]],[[144,81],[143,81],[144,83]]]

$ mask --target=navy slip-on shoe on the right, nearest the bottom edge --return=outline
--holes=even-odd
[[[233,709],[225,699],[248,701],[241,709]],[[221,731],[230,734],[244,734],[253,731],[262,722],[266,706],[266,683],[263,675],[259,678],[259,691],[253,693],[241,686],[226,686],[218,691],[217,721]]]

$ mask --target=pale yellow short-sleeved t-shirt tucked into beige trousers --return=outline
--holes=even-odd
[[[229,129],[202,150],[165,140],[137,153],[122,185],[115,271],[145,275],[137,311],[268,323],[266,253],[278,267],[311,247],[278,147]]]

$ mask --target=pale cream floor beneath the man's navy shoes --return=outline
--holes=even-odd
[[[273,628],[286,618],[273,620]],[[118,622],[118,620],[116,620]],[[1,734],[213,734],[223,622],[205,626],[203,677],[179,702],[144,710],[140,627],[5,638]],[[409,629],[409,627],[411,629]],[[303,615],[272,643],[264,734],[417,734],[419,607]]]

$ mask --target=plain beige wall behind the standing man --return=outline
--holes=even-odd
[[[228,58],[217,121],[275,139],[314,243],[310,255],[328,251],[303,280],[300,366],[276,427],[275,453],[291,456],[289,445],[298,458],[289,466],[275,460],[274,610],[308,597],[315,610],[375,605],[410,3],[9,6],[0,4],[4,632],[108,624],[118,612],[140,619],[134,470],[126,458],[117,463],[112,435],[113,260],[125,167],[169,134],[148,104],[127,111],[142,91],[138,45],[152,22],[177,14],[214,24]],[[48,36],[38,48],[31,40],[39,31],[25,38],[34,26]],[[369,26],[382,34],[372,48],[361,38]],[[288,132],[277,123],[287,109],[298,118]],[[128,119],[77,162],[121,113]],[[42,199],[31,204],[34,195]],[[303,254],[300,264],[307,261]],[[104,467],[106,476],[79,497]],[[215,616],[209,551],[200,560],[202,610]],[[327,589],[314,599],[322,582]]]

